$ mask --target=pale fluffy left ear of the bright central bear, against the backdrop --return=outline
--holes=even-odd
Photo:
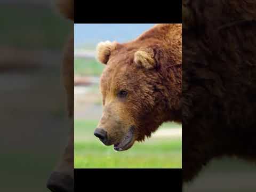
[[[96,48],[97,60],[103,64],[107,64],[111,50],[114,49],[115,44],[116,42],[110,41],[100,42]]]

